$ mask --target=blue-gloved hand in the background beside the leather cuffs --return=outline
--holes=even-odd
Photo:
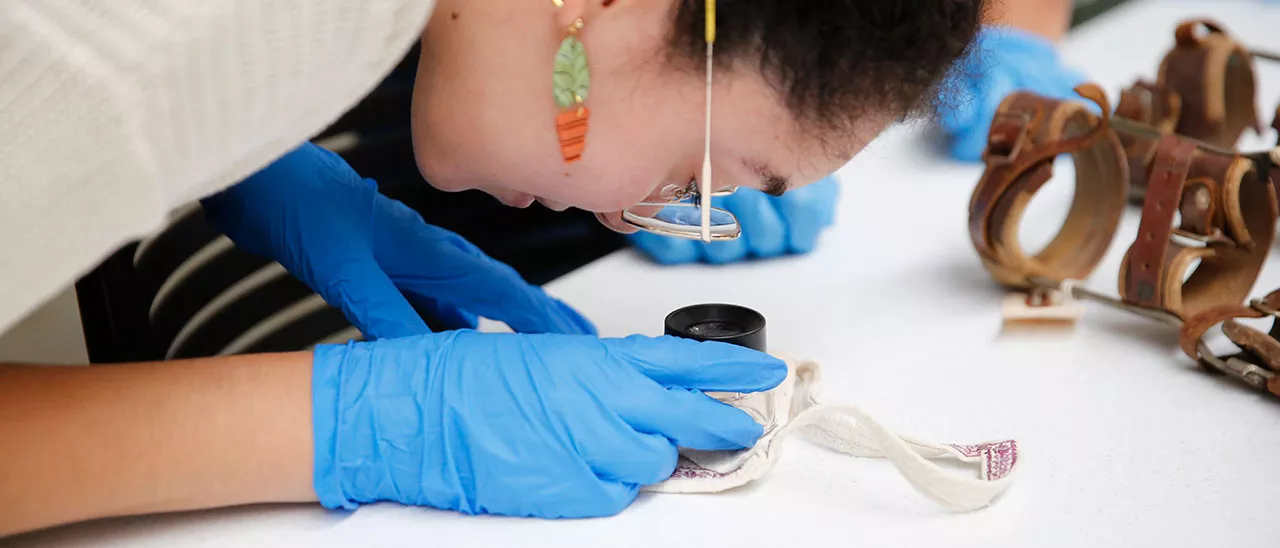
[[[1084,82],[1083,73],[1062,64],[1052,42],[1004,26],[979,31],[974,55],[956,69],[959,88],[954,96],[941,97],[938,115],[951,156],[963,161],[982,160],[991,119],[1009,93],[1029,90],[1047,97],[1073,99],[1078,97],[1073,88]],[[1097,105],[1083,99],[1080,102],[1097,113]]]

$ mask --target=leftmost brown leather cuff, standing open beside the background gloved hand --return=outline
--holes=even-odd
[[[1076,93],[1110,113],[1092,83]],[[969,201],[969,237],[997,282],[1027,287],[1028,278],[1083,279],[1106,255],[1126,202],[1128,166],[1107,123],[1075,101],[1015,92],[991,124],[983,172]],[[1029,256],[1018,229],[1032,196],[1052,177],[1053,159],[1075,161],[1075,196],[1066,222],[1039,254]]]

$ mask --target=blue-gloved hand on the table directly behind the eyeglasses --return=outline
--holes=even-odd
[[[840,184],[835,175],[782,196],[739,188],[730,196],[712,200],[716,207],[737,216],[742,225],[742,236],[737,239],[704,243],[649,232],[636,232],[628,238],[640,251],[666,265],[694,261],[723,264],[748,257],[808,254],[818,245],[818,234],[835,222],[838,195]]]

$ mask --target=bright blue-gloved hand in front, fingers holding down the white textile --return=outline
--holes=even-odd
[[[767,353],[632,335],[456,330],[317,346],[315,490],[463,513],[596,517],[667,479],[676,447],[741,449],[748,414],[699,391],[759,392]]]

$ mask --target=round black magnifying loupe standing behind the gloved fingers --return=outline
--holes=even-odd
[[[739,305],[690,305],[667,315],[664,332],[694,341],[717,341],[768,352],[764,316]]]

